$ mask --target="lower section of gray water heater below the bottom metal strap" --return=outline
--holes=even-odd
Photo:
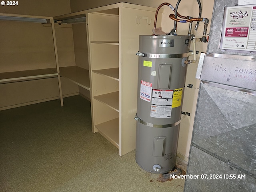
[[[138,124],[140,124],[139,128]],[[164,174],[172,170],[176,163],[178,133],[179,125],[168,128],[150,128],[137,122],[137,164],[152,173]],[[155,165],[158,165],[157,171],[154,169]]]

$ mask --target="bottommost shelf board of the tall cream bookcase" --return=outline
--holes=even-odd
[[[119,118],[95,126],[98,132],[119,149]]]

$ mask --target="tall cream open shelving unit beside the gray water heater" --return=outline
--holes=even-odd
[[[156,8],[128,3],[86,12],[93,132],[114,144],[120,156],[135,149],[136,52],[139,35],[152,34],[155,12]]]

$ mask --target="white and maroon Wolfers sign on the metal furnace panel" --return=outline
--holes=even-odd
[[[225,7],[220,48],[256,51],[256,4]]]

